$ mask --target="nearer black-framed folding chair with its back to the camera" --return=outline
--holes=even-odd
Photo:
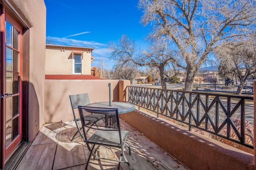
[[[120,129],[120,122],[119,122],[119,115],[118,115],[118,109],[111,109],[111,108],[102,108],[102,107],[86,107],[86,106],[78,106],[79,115],[82,122],[82,128],[84,131],[84,142],[86,143],[90,155],[87,158],[86,163],[86,170],[88,168],[90,158],[93,155],[94,159],[105,159],[105,160],[112,160],[117,161],[118,163],[118,170],[120,168],[120,163],[124,162],[127,163],[130,166],[130,163],[125,157],[124,154],[124,146],[126,145],[129,149],[129,154],[131,155],[131,150],[128,144],[126,144],[126,139],[128,137],[129,131],[123,131]],[[102,123],[101,125],[98,125],[96,127],[95,124],[88,124],[84,120],[84,113],[90,112],[90,113],[98,113],[102,115],[115,115],[116,122],[114,124],[108,124],[108,123]],[[86,134],[85,127],[90,127],[91,129],[94,129],[96,131],[93,135]],[[96,146],[97,145],[97,146]],[[109,158],[101,158],[96,155],[97,150],[100,146],[105,147],[117,147],[121,149],[121,156],[119,160],[113,160]],[[96,149],[95,149],[96,148]],[[124,158],[124,161],[122,161],[122,157]]]

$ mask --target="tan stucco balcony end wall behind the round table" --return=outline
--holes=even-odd
[[[119,83],[122,82],[121,84]],[[69,95],[88,93],[90,103],[109,101],[111,83],[111,100],[120,101],[119,91],[124,94],[129,80],[45,80],[44,82],[44,121],[58,122],[73,120]],[[123,90],[122,90],[123,89]],[[76,115],[79,117],[79,114]]]

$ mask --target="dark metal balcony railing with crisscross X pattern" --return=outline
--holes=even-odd
[[[253,97],[128,86],[128,102],[191,127],[252,148],[245,142],[245,114]]]

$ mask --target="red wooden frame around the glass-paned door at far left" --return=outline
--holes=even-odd
[[[22,27],[18,24],[12,16],[10,16],[3,5],[0,5],[0,94],[6,92],[6,21],[18,29],[19,35],[19,132],[18,136],[12,143],[6,148],[6,98],[0,99],[0,168],[4,168],[6,158],[14,151],[18,144],[22,141]]]

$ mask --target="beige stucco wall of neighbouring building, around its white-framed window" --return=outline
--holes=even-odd
[[[91,54],[87,49],[67,48],[61,51],[60,47],[46,46],[45,74],[72,74],[72,51],[84,51],[82,74],[91,74]]]

